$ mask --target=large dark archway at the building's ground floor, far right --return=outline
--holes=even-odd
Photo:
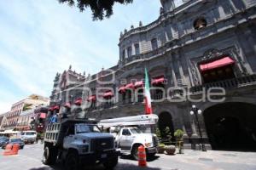
[[[213,105],[204,113],[213,150],[256,151],[256,105],[230,102]]]

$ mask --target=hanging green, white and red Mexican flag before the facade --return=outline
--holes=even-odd
[[[150,86],[148,80],[148,71],[145,68],[145,89],[144,89],[144,101],[145,101],[145,113],[147,115],[152,114]]]

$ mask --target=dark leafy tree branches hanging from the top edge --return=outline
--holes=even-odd
[[[70,6],[76,5],[81,12],[85,8],[92,11],[93,20],[103,20],[105,17],[109,18],[113,14],[114,3],[127,4],[132,3],[133,0],[58,0],[60,3],[68,3]]]

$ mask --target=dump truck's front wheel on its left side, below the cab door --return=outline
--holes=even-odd
[[[65,160],[65,167],[66,170],[79,170],[79,155],[75,151],[72,151],[67,154]]]

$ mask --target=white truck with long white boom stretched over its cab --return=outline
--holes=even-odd
[[[140,145],[145,147],[147,156],[154,156],[157,152],[158,138],[156,135],[154,133],[143,133],[139,128],[145,125],[154,126],[157,121],[158,116],[152,114],[105,119],[100,121],[98,125],[113,133],[115,143],[121,152],[129,151],[131,156],[137,160],[137,149]]]

